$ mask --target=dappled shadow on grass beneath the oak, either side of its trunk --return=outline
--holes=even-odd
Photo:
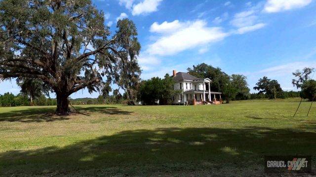
[[[76,107],[79,113],[85,116],[90,116],[94,113],[108,114],[108,115],[130,115],[132,112],[122,111],[116,107],[107,106],[93,106],[93,107]],[[39,108],[28,107],[27,109],[12,110],[0,113],[0,121],[9,122],[49,122],[58,120],[68,120],[69,116],[55,115],[56,108]]]

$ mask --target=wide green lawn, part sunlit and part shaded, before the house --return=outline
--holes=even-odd
[[[314,155],[316,104],[0,108],[3,176],[262,176],[264,155]]]

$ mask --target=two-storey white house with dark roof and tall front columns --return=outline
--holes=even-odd
[[[208,78],[197,78],[186,72],[176,72],[173,70],[173,89],[182,90],[182,93],[173,98],[174,104],[220,104],[221,92],[211,91]]]

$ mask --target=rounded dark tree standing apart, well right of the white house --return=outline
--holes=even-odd
[[[282,89],[276,80],[268,79],[264,76],[259,79],[256,87],[253,89],[259,90],[259,93],[266,93],[270,99],[282,98]]]

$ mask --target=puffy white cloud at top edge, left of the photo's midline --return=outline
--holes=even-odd
[[[136,5],[133,5],[132,15],[148,14],[156,12],[158,5],[162,0],[144,0]]]

